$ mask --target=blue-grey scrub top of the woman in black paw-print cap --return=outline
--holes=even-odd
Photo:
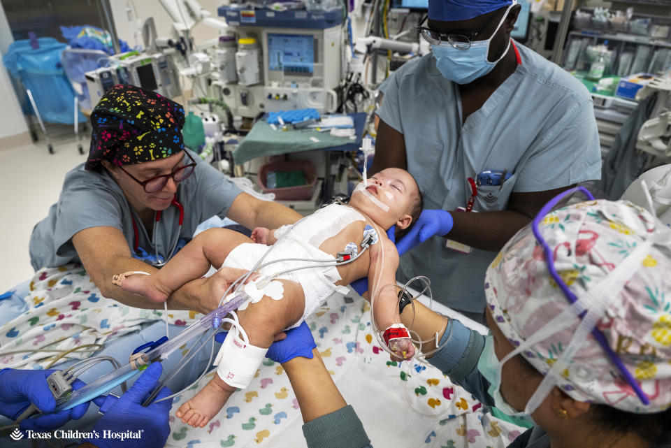
[[[187,150],[189,151],[189,150]],[[184,222],[178,235],[179,211],[175,205],[166,208],[161,220],[154,224],[159,255],[168,256],[175,239],[191,240],[196,226],[214,215],[225,217],[233,199],[242,191],[226,175],[219,173],[191,152],[196,161],[194,173],[180,183],[177,200],[184,207]],[[110,226],[124,234],[131,248],[134,246],[133,220],[138,228],[142,252],[154,257],[152,236],[147,233],[138,214],[131,208],[124,192],[104,168],[86,171],[84,164],[76,166],[65,176],[63,189],[49,215],[39,222],[30,237],[30,261],[35,270],[54,268],[71,261],[80,262],[72,243],[78,231],[98,226]]]

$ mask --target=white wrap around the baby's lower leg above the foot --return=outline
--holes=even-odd
[[[252,382],[268,349],[245,344],[235,333],[231,328],[226,335],[214,365],[217,366],[217,375],[226,384],[245,389]]]

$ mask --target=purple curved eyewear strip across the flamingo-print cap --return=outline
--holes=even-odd
[[[568,288],[568,285],[565,284],[565,282],[561,279],[560,275],[557,273],[557,269],[554,267],[554,258],[552,255],[552,250],[550,249],[549,245],[543,238],[543,236],[540,233],[540,223],[542,222],[543,218],[545,215],[547,215],[551,210],[560,202],[563,200],[563,198],[569,196],[570,194],[576,193],[576,192],[582,192],[589,201],[594,201],[594,196],[589,192],[588,189],[585,187],[575,187],[572,189],[568,189],[565,192],[562,192],[558,196],[555,196],[554,198],[551,199],[547,204],[543,206],[542,209],[540,209],[540,212],[536,215],[536,217],[533,219],[533,223],[531,225],[531,229],[533,231],[534,236],[536,237],[536,240],[538,243],[540,243],[543,252],[545,254],[545,262],[547,263],[547,270],[549,270],[550,276],[554,279],[554,281],[557,283],[557,286],[561,291],[564,293],[564,296],[566,296],[566,299],[570,303],[575,303],[578,301],[578,298],[573,294],[573,292]],[[647,395],[642,391],[641,386],[639,386],[638,382],[635,380],[633,375],[629,372],[629,370],[626,368],[622,360],[617,356],[615,352],[613,352],[613,349],[608,345],[608,342],[601,333],[598,328],[593,328],[592,330],[592,335],[594,336],[594,339],[599,343],[601,348],[603,348],[604,352],[608,355],[608,359],[617,367],[617,369],[620,371],[622,376],[624,377],[624,380],[631,386],[631,389],[635,391],[636,395],[638,398],[641,400],[641,402],[644,405],[649,405],[650,400],[647,397]]]

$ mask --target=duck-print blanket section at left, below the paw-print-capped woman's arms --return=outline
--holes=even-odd
[[[163,310],[140,310],[104,298],[76,263],[38,271],[21,300],[27,311],[0,327],[0,368],[46,368],[58,352],[33,350],[102,345],[109,338],[139,331],[145,322],[164,319]],[[191,324],[199,316],[170,312],[168,323]],[[95,349],[74,351],[68,359],[92,356],[87,352],[91,348]]]

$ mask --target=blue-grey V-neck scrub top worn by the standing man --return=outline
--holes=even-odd
[[[505,210],[512,192],[600,179],[598,129],[586,87],[536,52],[516,46],[517,69],[463,126],[459,88],[442,77],[433,55],[407,62],[385,86],[378,115],[403,133],[407,170],[424,194],[424,208],[465,207],[468,178],[485,170],[507,170],[512,177],[502,186],[479,187],[473,209],[478,212]],[[483,312],[484,273],[495,256],[455,252],[445,247],[445,238],[433,237],[401,257],[398,280],[426,275],[439,302]]]

